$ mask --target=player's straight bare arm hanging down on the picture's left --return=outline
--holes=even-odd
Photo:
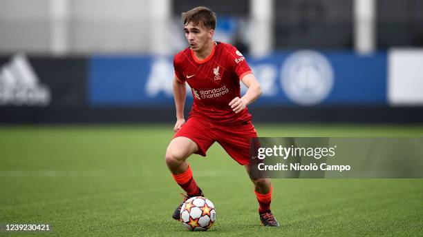
[[[184,107],[185,99],[187,98],[187,86],[185,82],[179,81],[176,75],[173,78],[173,97],[176,106],[176,124],[175,127],[173,127],[173,131],[178,132],[180,127],[185,123]]]

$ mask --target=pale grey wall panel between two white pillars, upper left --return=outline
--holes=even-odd
[[[71,1],[70,49],[73,52],[148,50],[148,1]]]

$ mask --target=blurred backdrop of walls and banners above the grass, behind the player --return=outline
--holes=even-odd
[[[0,123],[173,122],[196,6],[259,79],[254,121],[423,121],[422,1],[1,0]]]

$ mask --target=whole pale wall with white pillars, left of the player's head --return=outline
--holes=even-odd
[[[54,1],[1,0],[0,52],[166,52],[170,0],[62,0],[62,15]]]

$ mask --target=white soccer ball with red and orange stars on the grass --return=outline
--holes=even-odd
[[[191,231],[206,231],[216,221],[216,210],[209,199],[195,196],[180,208],[180,221]]]

